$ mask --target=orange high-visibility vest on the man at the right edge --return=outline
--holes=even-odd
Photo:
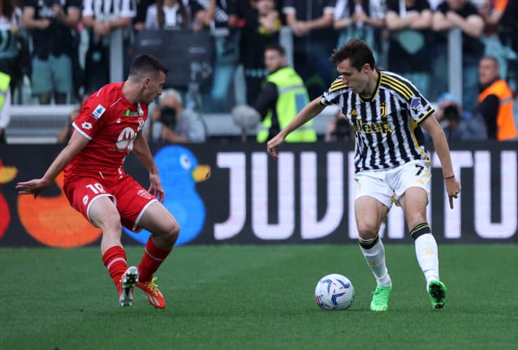
[[[496,139],[498,141],[517,139],[518,130],[512,114],[514,99],[509,85],[503,79],[496,80],[479,94],[478,103],[484,101],[490,94],[498,97],[498,102],[500,102],[496,115]]]

